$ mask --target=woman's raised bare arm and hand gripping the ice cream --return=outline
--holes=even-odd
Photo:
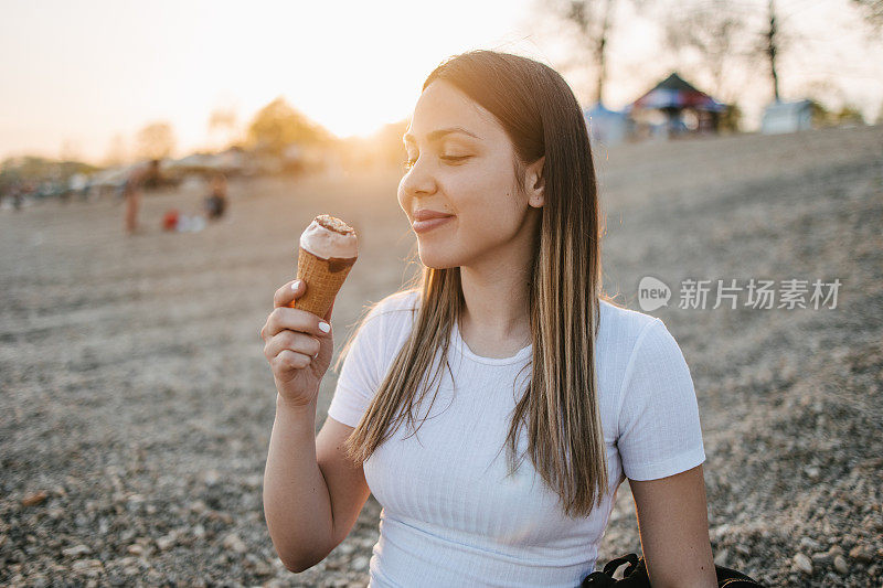
[[[325,559],[349,534],[370,494],[362,464],[342,449],[353,427],[327,418],[315,435],[319,385],[331,363],[333,336],[330,329],[320,329],[318,317],[290,308],[302,293],[304,284],[294,281],[276,290],[275,308],[260,329],[278,393],[264,471],[264,515],[276,553],[291,571]],[[326,321],[332,310],[333,304]]]

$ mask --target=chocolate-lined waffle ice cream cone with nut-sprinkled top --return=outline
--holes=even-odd
[[[321,214],[300,235],[297,278],[307,290],[291,308],[323,319],[358,258],[355,231],[340,218]]]

